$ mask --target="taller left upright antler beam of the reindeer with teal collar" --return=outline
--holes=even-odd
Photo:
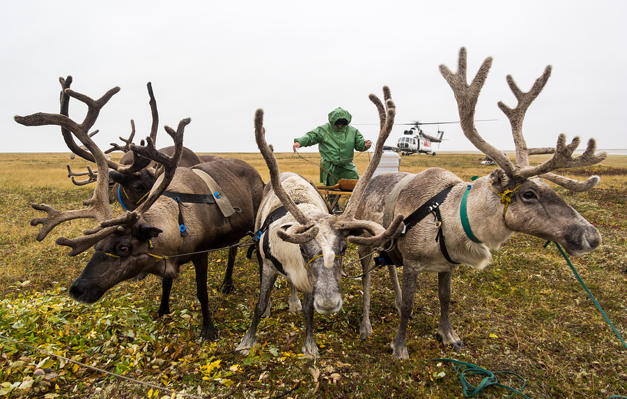
[[[466,58],[466,49],[462,47],[459,50],[457,73],[452,73],[444,64],[440,65],[440,73],[444,79],[447,80],[449,86],[451,86],[455,100],[457,101],[460,126],[467,139],[470,140],[479,151],[492,158],[506,173],[511,174],[513,173],[514,166],[509,158],[504,156],[502,151],[499,151],[486,142],[486,140],[483,140],[483,137],[479,135],[477,128],[474,126],[474,111],[477,107],[477,99],[479,98],[483,84],[486,83],[488,72],[492,66],[492,57],[483,60],[483,63],[481,63],[477,71],[477,75],[475,75],[470,85],[467,83],[466,78]]]

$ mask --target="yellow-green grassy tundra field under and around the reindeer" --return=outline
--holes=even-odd
[[[258,153],[219,155],[246,160],[268,181]],[[302,157],[277,153],[282,171],[318,181],[317,154]],[[493,169],[479,164],[479,158],[462,153],[406,156],[401,172],[438,166],[470,181]],[[369,153],[356,158],[359,171],[368,161]],[[155,276],[121,283],[95,305],[82,306],[69,298],[68,287],[91,252],[68,257],[68,248],[54,239],[78,236],[93,222],[63,223],[42,242],[35,240],[39,227],[29,225],[41,216],[31,203],[76,209],[91,194],[93,188],[70,183],[65,163],[73,170],[86,164],[70,161],[67,153],[0,153],[0,398],[177,397],[165,389],[196,398],[463,398],[456,371],[450,363],[433,361],[438,358],[515,372],[526,380],[523,393],[530,398],[627,396],[627,349],[555,246],[543,248],[544,242],[531,236],[513,236],[485,271],[460,266],[454,273],[451,319],[466,344],[459,352],[434,338],[439,319],[436,276],[419,278],[415,318],[408,327],[408,361],[398,361],[387,351],[398,328],[387,271],[373,273],[373,337],[358,338],[361,283],[345,280],[341,312],[314,316],[320,347],[316,360],[300,355],[303,319],[288,313],[285,281],[277,283],[272,315],[258,328],[261,346],[249,356],[233,352],[249,326],[258,294],[258,266],[243,253],[231,295],[219,292],[226,251],[209,255],[216,342],[199,340],[201,315],[191,265],[183,267],[174,283],[173,313],[156,322],[152,318],[161,287]],[[592,173],[601,175],[601,183],[589,193],[556,188],[603,235],[600,248],[571,261],[627,338],[627,156],[610,156],[601,165],[566,175],[585,179]],[[350,246],[346,261],[356,259],[356,253]],[[353,264],[346,269],[355,275],[360,268]],[[498,378],[520,387],[516,378]],[[470,382],[477,385],[479,379]],[[490,387],[480,397],[507,395]]]

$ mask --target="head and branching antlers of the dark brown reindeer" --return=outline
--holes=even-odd
[[[68,80],[71,80],[71,78]],[[92,286],[95,286],[95,289],[91,292],[87,292],[84,289],[77,289],[77,281],[75,281],[72,285],[72,289],[70,289],[70,294],[75,297],[75,299],[88,303],[98,300],[107,289],[121,280],[132,277],[123,275],[121,271],[134,273],[135,275],[141,272],[141,270],[137,270],[137,268],[131,266],[133,263],[142,261],[145,262],[146,259],[144,258],[148,257],[147,253],[150,238],[160,234],[161,230],[156,227],[145,225],[144,223],[139,223],[139,220],[141,216],[146,213],[148,209],[150,209],[150,206],[155,203],[157,198],[160,197],[160,195],[166,190],[167,186],[173,179],[176,171],[176,165],[183,149],[183,133],[185,126],[189,123],[189,119],[183,119],[180,121],[176,131],[168,126],[165,127],[165,130],[172,137],[176,147],[172,156],[167,156],[167,154],[157,151],[157,149],[155,149],[153,139],[150,137],[146,138],[146,144],[142,141],[139,146],[132,144],[131,142],[128,143],[130,151],[135,153],[137,158],[142,158],[148,161],[153,160],[163,165],[164,174],[160,182],[150,192],[146,201],[144,201],[134,211],[126,211],[121,216],[116,217],[112,213],[108,201],[109,167],[115,164],[111,163],[110,160],[107,160],[104,152],[100,150],[93,140],[91,140],[90,135],[88,135],[88,130],[95,123],[102,107],[107,104],[109,99],[111,99],[111,97],[119,90],[120,89],[116,87],[105,93],[99,100],[93,100],[82,93],[77,93],[69,88],[65,88],[63,90],[64,95],[75,98],[82,103],[85,103],[88,107],[88,112],[82,123],[72,121],[72,119],[64,114],[38,113],[29,116],[15,116],[15,121],[24,126],[61,126],[66,134],[70,136],[74,135],[74,137],[82,142],[87,149],[86,151],[88,151],[90,157],[95,160],[96,166],[98,167],[99,173],[97,175],[96,187],[93,191],[93,195],[90,199],[84,201],[86,208],[71,211],[57,211],[52,208],[52,206],[46,204],[33,204],[34,209],[47,212],[47,217],[35,218],[31,220],[31,225],[33,226],[39,224],[42,225],[42,229],[37,236],[38,241],[45,239],[47,234],[49,234],[49,232],[52,231],[56,225],[59,225],[66,220],[77,218],[94,218],[98,220],[98,226],[93,229],[84,230],[83,236],[79,236],[74,239],[60,237],[56,240],[57,244],[72,248],[69,253],[70,256],[78,255],[88,248],[96,246],[95,255],[93,255],[90,262],[88,262],[86,270],[82,276],[77,279],[77,281],[88,280]],[[74,143],[72,137],[70,137],[70,141]],[[68,142],[67,139],[66,142]],[[70,147],[70,149],[72,148]],[[74,149],[72,149],[72,151],[74,151]],[[86,154],[83,153],[81,156],[85,155]],[[117,167],[123,170],[132,170],[134,167],[137,167],[137,164],[118,164]],[[104,257],[107,257],[107,259],[105,260]],[[102,270],[104,268],[103,263],[115,264],[116,262],[123,264],[124,267],[118,265],[117,269],[119,270],[115,271],[115,268],[112,269],[115,273],[107,273],[107,278],[104,278],[101,281],[95,281],[93,276],[91,276],[90,270],[93,269],[93,266],[91,265],[99,265],[99,276],[102,277]],[[118,276],[118,274],[120,274],[118,272],[122,273],[122,275]]]

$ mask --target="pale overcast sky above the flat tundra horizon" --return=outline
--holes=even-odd
[[[150,132],[146,83],[162,126],[190,117],[185,145],[197,152],[258,151],[253,117],[265,110],[268,142],[291,151],[293,139],[343,107],[364,137],[376,140],[369,93],[392,90],[396,122],[456,121],[453,93],[438,66],[468,74],[493,57],[477,105],[479,133],[513,149],[497,102],[514,107],[505,77],[528,91],[547,65],[552,76],[529,107],[528,146],[555,146],[557,135],[596,137],[599,149],[627,149],[627,34],[624,1],[14,1],[0,14],[0,132],[3,152],[68,151],[59,128],[26,128],[13,116],[59,112],[59,77],[100,98],[117,93],[94,128],[102,149],[130,133]],[[85,107],[70,102],[70,116]],[[361,125],[364,123],[364,125]],[[372,123],[369,125],[368,123]],[[388,144],[405,127],[396,126]],[[442,151],[474,150],[457,125],[440,126]],[[425,126],[435,135],[437,126]],[[137,141],[137,140],[136,140]],[[583,146],[584,144],[582,144]],[[315,150],[311,147],[309,150]],[[308,149],[304,149],[307,151]]]

